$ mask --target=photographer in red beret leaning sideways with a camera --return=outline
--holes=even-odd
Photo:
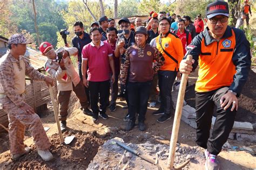
[[[81,107],[84,109],[84,114],[89,106],[83,83],[70,59],[70,55],[76,55],[78,50],[75,47],[64,47],[54,51],[53,46],[49,42],[42,42],[39,49],[48,58],[45,63],[46,72],[52,75],[53,79],[57,80],[57,88],[59,90],[58,102],[60,104],[60,129],[65,131],[71,91],[73,90],[79,98]]]

